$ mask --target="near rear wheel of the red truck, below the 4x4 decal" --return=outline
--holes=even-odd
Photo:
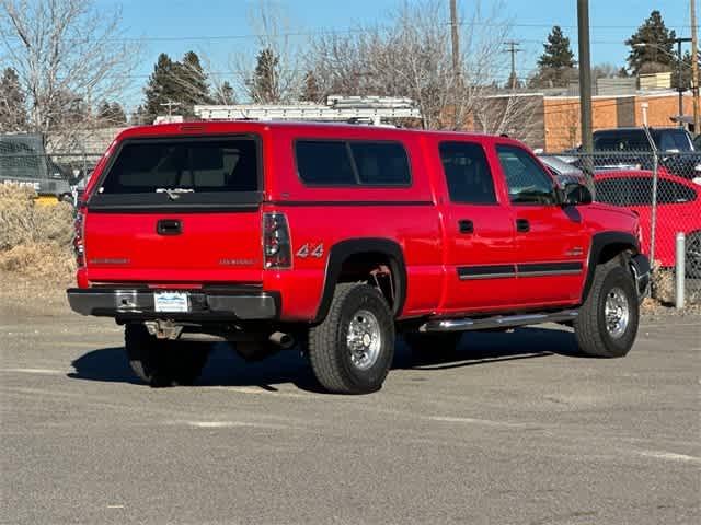
[[[309,330],[319,383],[337,394],[379,390],[393,357],[394,319],[382,294],[363,283],[336,285],[326,318]]]

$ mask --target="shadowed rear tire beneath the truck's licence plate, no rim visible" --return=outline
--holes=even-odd
[[[208,343],[159,340],[146,326],[125,326],[124,342],[134,373],[153,387],[192,385],[209,357]]]

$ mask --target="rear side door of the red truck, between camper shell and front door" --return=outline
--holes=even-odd
[[[499,202],[492,170],[479,142],[437,144],[447,200],[441,203],[446,289],[441,311],[485,311],[515,301],[514,224]]]

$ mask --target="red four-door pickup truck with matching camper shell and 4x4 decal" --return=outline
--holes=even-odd
[[[508,138],[149,126],[94,171],[68,299],[125,326],[154,386],[194,382],[211,341],[250,359],[299,343],[327,390],[368,393],[395,334],[441,352],[467,330],[555,322],[586,354],[624,355],[648,283],[640,235]]]

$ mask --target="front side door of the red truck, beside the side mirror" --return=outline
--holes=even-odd
[[[560,206],[554,180],[526,149],[496,145],[516,229],[516,299],[520,305],[576,302],[590,234],[576,207]]]

